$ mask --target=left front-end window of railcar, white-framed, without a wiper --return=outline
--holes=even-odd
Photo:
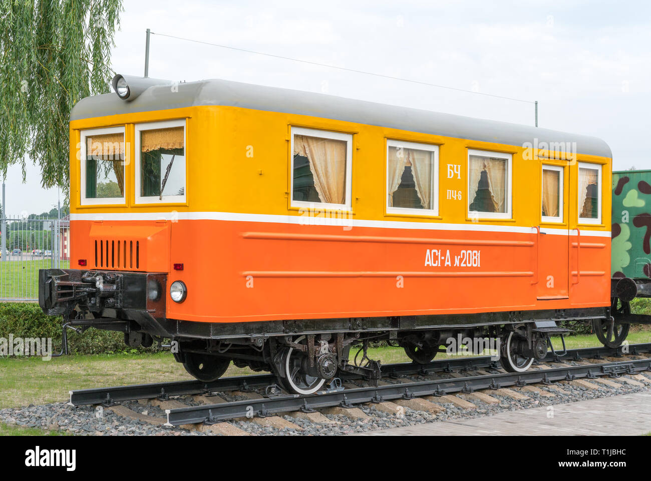
[[[124,203],[124,127],[81,131],[81,205]]]

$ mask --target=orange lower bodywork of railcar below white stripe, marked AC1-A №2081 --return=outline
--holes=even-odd
[[[536,271],[542,257],[536,258],[535,230],[346,229],[226,220],[178,220],[161,227],[152,220],[111,221],[111,230],[103,226],[98,232],[92,224],[72,221],[73,259],[90,259],[84,246],[91,232],[133,237],[138,231],[145,252],[158,253],[146,257],[140,270],[169,272],[168,285],[177,279],[187,285],[182,304],[168,296],[167,316],[173,319],[236,322],[609,305],[610,246],[604,237],[581,235],[581,248],[570,248],[570,299],[538,300],[534,280],[544,273]],[[169,250],[163,247],[166,229]],[[566,246],[576,240],[548,236]],[[162,252],[169,252],[167,259]],[[173,263],[183,263],[184,270],[171,270]],[[572,275],[577,270],[579,275]]]

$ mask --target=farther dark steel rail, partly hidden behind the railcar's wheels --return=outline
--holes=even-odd
[[[651,343],[631,344],[628,346],[630,354],[651,352]],[[552,362],[562,360],[576,360],[581,358],[594,357],[618,357],[622,355],[622,347],[616,349],[610,347],[587,347],[581,349],[570,349],[566,356],[555,357],[551,351],[547,357],[540,362]],[[458,370],[476,370],[481,368],[499,369],[499,361],[493,360],[490,356],[437,359],[427,364],[415,364],[413,362],[400,362],[381,366],[381,377],[400,377],[405,375],[428,375],[435,372],[452,372]],[[342,380],[361,379],[359,375],[344,373]],[[139,385],[113,386],[90,388],[70,391],[70,404],[75,406],[89,404],[105,404],[122,401],[134,401],[139,399],[161,398],[169,396],[184,396],[191,394],[209,394],[210,392],[223,392],[242,390],[249,391],[258,388],[265,388],[277,382],[273,374],[258,374],[222,377],[211,383],[202,381],[171,381],[166,383],[150,383]]]

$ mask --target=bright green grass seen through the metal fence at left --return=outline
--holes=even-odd
[[[49,257],[26,261],[0,261],[0,298],[38,299],[38,269],[50,267]],[[61,261],[61,269],[68,267],[70,261]]]

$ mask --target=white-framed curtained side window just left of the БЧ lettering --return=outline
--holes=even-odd
[[[438,214],[437,145],[387,141],[387,212]]]

